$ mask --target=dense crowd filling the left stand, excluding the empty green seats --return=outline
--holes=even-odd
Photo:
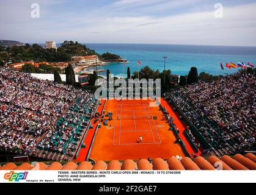
[[[76,105],[78,109],[81,108],[79,115],[75,111],[67,112],[76,99],[85,104]],[[82,118],[81,121],[80,115],[85,107],[87,110],[84,115],[92,114],[95,107],[95,101],[90,104],[92,99],[93,94],[69,85],[36,79],[27,73],[0,69],[0,150],[31,154],[40,138],[45,135],[45,138],[53,137],[56,132],[62,133],[59,141],[61,145],[70,138],[76,124],[79,127],[86,126],[87,123],[83,121],[85,119]],[[62,117],[66,122],[57,126],[56,122]],[[79,137],[79,133],[74,136]],[[67,151],[74,147],[69,143]]]

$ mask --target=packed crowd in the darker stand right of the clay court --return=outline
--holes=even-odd
[[[211,146],[255,148],[255,85],[255,73],[236,73],[172,90],[170,96]],[[232,137],[233,132],[242,133]]]

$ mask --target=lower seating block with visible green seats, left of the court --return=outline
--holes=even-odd
[[[56,123],[54,131],[49,131],[38,144],[38,148],[72,157],[82,132],[89,126],[89,119],[96,105],[97,99],[92,98],[91,94],[78,98]]]

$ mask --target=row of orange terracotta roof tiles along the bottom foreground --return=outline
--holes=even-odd
[[[126,160],[123,163],[114,160],[108,164],[104,161],[97,161],[94,165],[87,161],[68,162],[65,165],[61,165],[59,162],[51,163],[51,165],[39,163],[35,166],[30,163],[23,163],[20,166],[16,166],[15,163],[7,163],[0,166],[0,170],[35,170],[38,168],[40,170],[214,170],[214,166],[220,165],[219,163],[222,163],[224,170],[256,170],[255,160],[254,154],[236,154],[233,158],[221,157],[221,160],[215,156],[211,156],[207,160],[203,157],[196,157],[194,160],[185,157],[181,161],[172,157],[167,161],[155,158],[152,162],[141,159],[137,163],[133,160]]]

